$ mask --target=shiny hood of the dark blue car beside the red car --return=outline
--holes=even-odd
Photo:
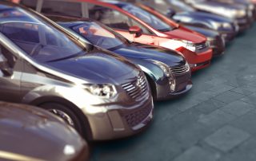
[[[133,43],[131,45],[124,45],[122,48],[114,49],[113,52],[127,59],[162,61],[169,66],[183,65],[186,63],[185,59],[176,51],[153,45]]]

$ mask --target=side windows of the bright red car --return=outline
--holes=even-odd
[[[104,25],[114,29],[128,30],[130,26],[139,26],[143,33],[150,34],[144,26],[135,22],[126,15],[103,6],[89,6],[89,18],[102,22]]]

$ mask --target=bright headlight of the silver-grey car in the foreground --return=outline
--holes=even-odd
[[[110,98],[117,94],[113,84],[90,84],[87,90],[95,95]]]

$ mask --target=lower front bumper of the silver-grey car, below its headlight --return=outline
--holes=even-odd
[[[153,98],[149,96],[143,104],[110,104],[105,105],[105,108],[110,110],[86,115],[92,140],[120,139],[142,132],[153,119],[154,103]]]

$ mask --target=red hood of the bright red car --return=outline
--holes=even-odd
[[[170,38],[192,41],[195,44],[206,41],[206,37],[203,37],[201,34],[193,32],[190,29],[185,29],[182,26],[180,26],[178,29],[174,29],[164,33],[166,33],[166,35]]]

